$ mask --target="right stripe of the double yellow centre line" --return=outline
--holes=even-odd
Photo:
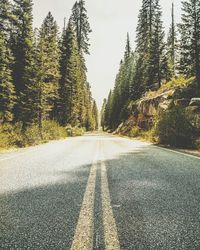
[[[101,162],[101,197],[103,208],[104,240],[106,250],[120,250],[117,226],[111,207],[106,165]]]

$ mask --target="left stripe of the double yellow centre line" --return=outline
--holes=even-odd
[[[92,164],[71,250],[92,250],[97,155]]]

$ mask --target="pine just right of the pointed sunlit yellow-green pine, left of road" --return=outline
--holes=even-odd
[[[60,122],[79,126],[80,56],[71,20],[63,32],[60,59]]]

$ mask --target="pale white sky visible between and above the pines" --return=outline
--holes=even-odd
[[[64,17],[71,15],[75,0],[33,0],[34,27],[40,27],[51,11],[60,30]],[[176,0],[176,21],[180,21],[181,0]],[[160,0],[166,31],[171,23],[171,0]],[[90,56],[87,56],[88,81],[99,108],[103,98],[113,88],[115,77],[123,58],[126,34],[130,33],[132,47],[135,46],[138,13],[142,0],[86,0],[86,8],[92,33],[90,34]]]

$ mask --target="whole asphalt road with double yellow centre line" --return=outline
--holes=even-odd
[[[200,159],[107,134],[0,154],[0,249],[200,249]]]

